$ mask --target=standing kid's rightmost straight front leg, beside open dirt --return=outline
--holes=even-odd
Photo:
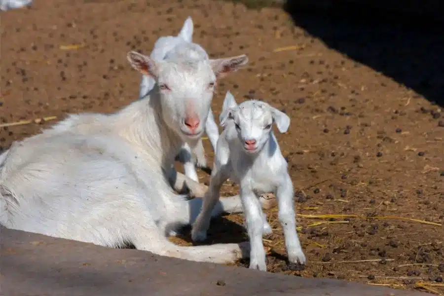
[[[305,255],[300,245],[296,232],[295,203],[293,201],[293,184],[290,176],[284,178],[277,187],[276,198],[278,202],[279,222],[284,229],[285,247],[287,248],[288,259],[292,263],[305,264]]]

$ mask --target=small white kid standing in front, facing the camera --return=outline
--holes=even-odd
[[[209,190],[191,231],[194,241],[206,238],[221,185],[230,178],[240,185],[251,243],[250,268],[263,271],[266,271],[266,263],[262,233],[271,233],[271,227],[261,210],[259,195],[266,192],[276,194],[289,261],[305,263],[296,233],[292,180],[271,129],[273,122],[281,133],[285,133],[290,118],[261,101],[246,101],[238,106],[231,93],[227,92],[220,116],[224,130],[216,148]]]

